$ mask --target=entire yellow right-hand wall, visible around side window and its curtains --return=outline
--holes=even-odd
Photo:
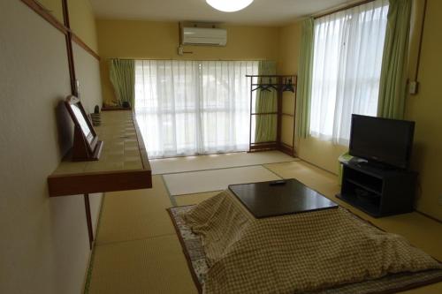
[[[409,77],[414,78],[417,61],[418,41],[420,39],[420,22],[422,20],[423,2],[415,1],[415,24],[412,26],[412,39],[409,60]],[[442,39],[438,37],[442,27],[442,2],[429,0],[425,29],[423,32],[423,49],[420,63],[420,92],[408,97],[406,118],[414,120],[415,149],[412,169],[420,174],[422,194],[417,201],[417,210],[442,219],[442,198],[440,185],[440,166],[442,166],[442,95],[438,85],[442,76]],[[301,39],[299,24],[281,28],[279,64],[281,73],[297,72],[297,54]],[[334,145],[331,142],[309,138],[299,139],[296,150],[301,159],[311,162],[324,170],[338,172],[338,157],[347,151],[347,147]]]

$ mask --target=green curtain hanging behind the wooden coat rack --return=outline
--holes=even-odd
[[[259,75],[276,74],[276,62],[261,61],[258,68]],[[269,78],[260,78],[258,83],[268,83]],[[277,83],[277,79],[272,79],[273,83]],[[255,112],[276,112],[278,110],[278,93],[276,89],[270,88],[270,91],[256,90]],[[278,128],[277,115],[255,116],[255,143],[276,141]]]

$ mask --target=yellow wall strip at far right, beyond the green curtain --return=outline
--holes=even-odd
[[[413,169],[419,171],[422,195],[417,208],[442,220],[442,197],[440,182],[442,166],[442,2],[429,0],[420,63],[419,94],[410,96],[406,117],[414,120],[415,149]]]

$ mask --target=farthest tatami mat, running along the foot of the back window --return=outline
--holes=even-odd
[[[258,165],[273,162],[292,162],[298,160],[280,151],[266,151],[255,153],[231,153],[225,155],[202,155],[174,157],[151,160],[152,173],[170,174],[175,172],[213,170],[235,168],[240,166]]]

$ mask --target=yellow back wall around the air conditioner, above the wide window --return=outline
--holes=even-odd
[[[227,46],[186,46],[180,57],[178,22],[97,20],[103,99],[114,100],[106,58],[278,60],[278,27],[225,26]]]

